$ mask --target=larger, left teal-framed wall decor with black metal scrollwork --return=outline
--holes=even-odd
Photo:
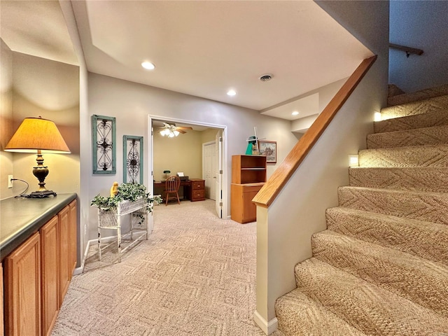
[[[116,174],[116,118],[92,116],[93,174]]]

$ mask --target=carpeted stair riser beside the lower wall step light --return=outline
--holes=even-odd
[[[364,149],[360,167],[448,167],[448,145]]]

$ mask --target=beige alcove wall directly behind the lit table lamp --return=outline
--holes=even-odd
[[[50,173],[45,188],[56,193],[79,193],[79,70],[78,66],[13,52],[13,128],[22,120],[38,117],[55,122],[71,154],[43,154]],[[14,177],[38,189],[32,174],[36,154],[13,153]],[[14,190],[25,184],[14,182]],[[18,193],[15,193],[17,195]]]

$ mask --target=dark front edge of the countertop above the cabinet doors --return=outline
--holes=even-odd
[[[14,251],[15,248],[18,248],[18,246],[20,246],[20,244],[31,237],[34,232],[37,232],[40,228],[42,228],[45,223],[56,216],[57,213],[59,213],[59,211],[69,205],[71,201],[76,200],[76,197],[78,197],[76,193],[69,194],[69,196],[65,200],[62,200],[61,202],[55,204],[43,214],[36,216],[36,218],[34,218],[31,223],[25,225],[25,229],[21,230],[18,235],[15,235],[8,241],[4,241],[0,248],[0,262],[3,262],[3,259],[6,258],[12,251]]]

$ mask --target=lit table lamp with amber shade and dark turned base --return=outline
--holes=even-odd
[[[48,167],[43,165],[42,153],[70,153],[62,135],[51,120],[39,118],[25,118],[15,134],[5,147],[8,152],[35,153],[37,151],[37,166],[33,174],[39,181],[37,191],[29,194],[31,198],[43,198],[56,196],[52,190],[45,188],[45,177],[48,175]]]

